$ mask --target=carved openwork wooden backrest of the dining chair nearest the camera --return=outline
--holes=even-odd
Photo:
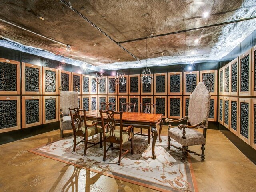
[[[114,110],[106,110],[102,111],[100,110],[100,117],[101,117],[101,123],[102,123],[102,128],[109,130],[110,134],[108,136],[109,139],[114,139],[116,140],[116,135],[114,130],[116,129],[116,120],[118,120],[118,126],[120,126],[120,140],[122,140],[122,129],[123,129],[123,124],[122,124],[122,114],[123,112],[116,112]],[[103,131],[103,137],[106,138],[106,133]]]

